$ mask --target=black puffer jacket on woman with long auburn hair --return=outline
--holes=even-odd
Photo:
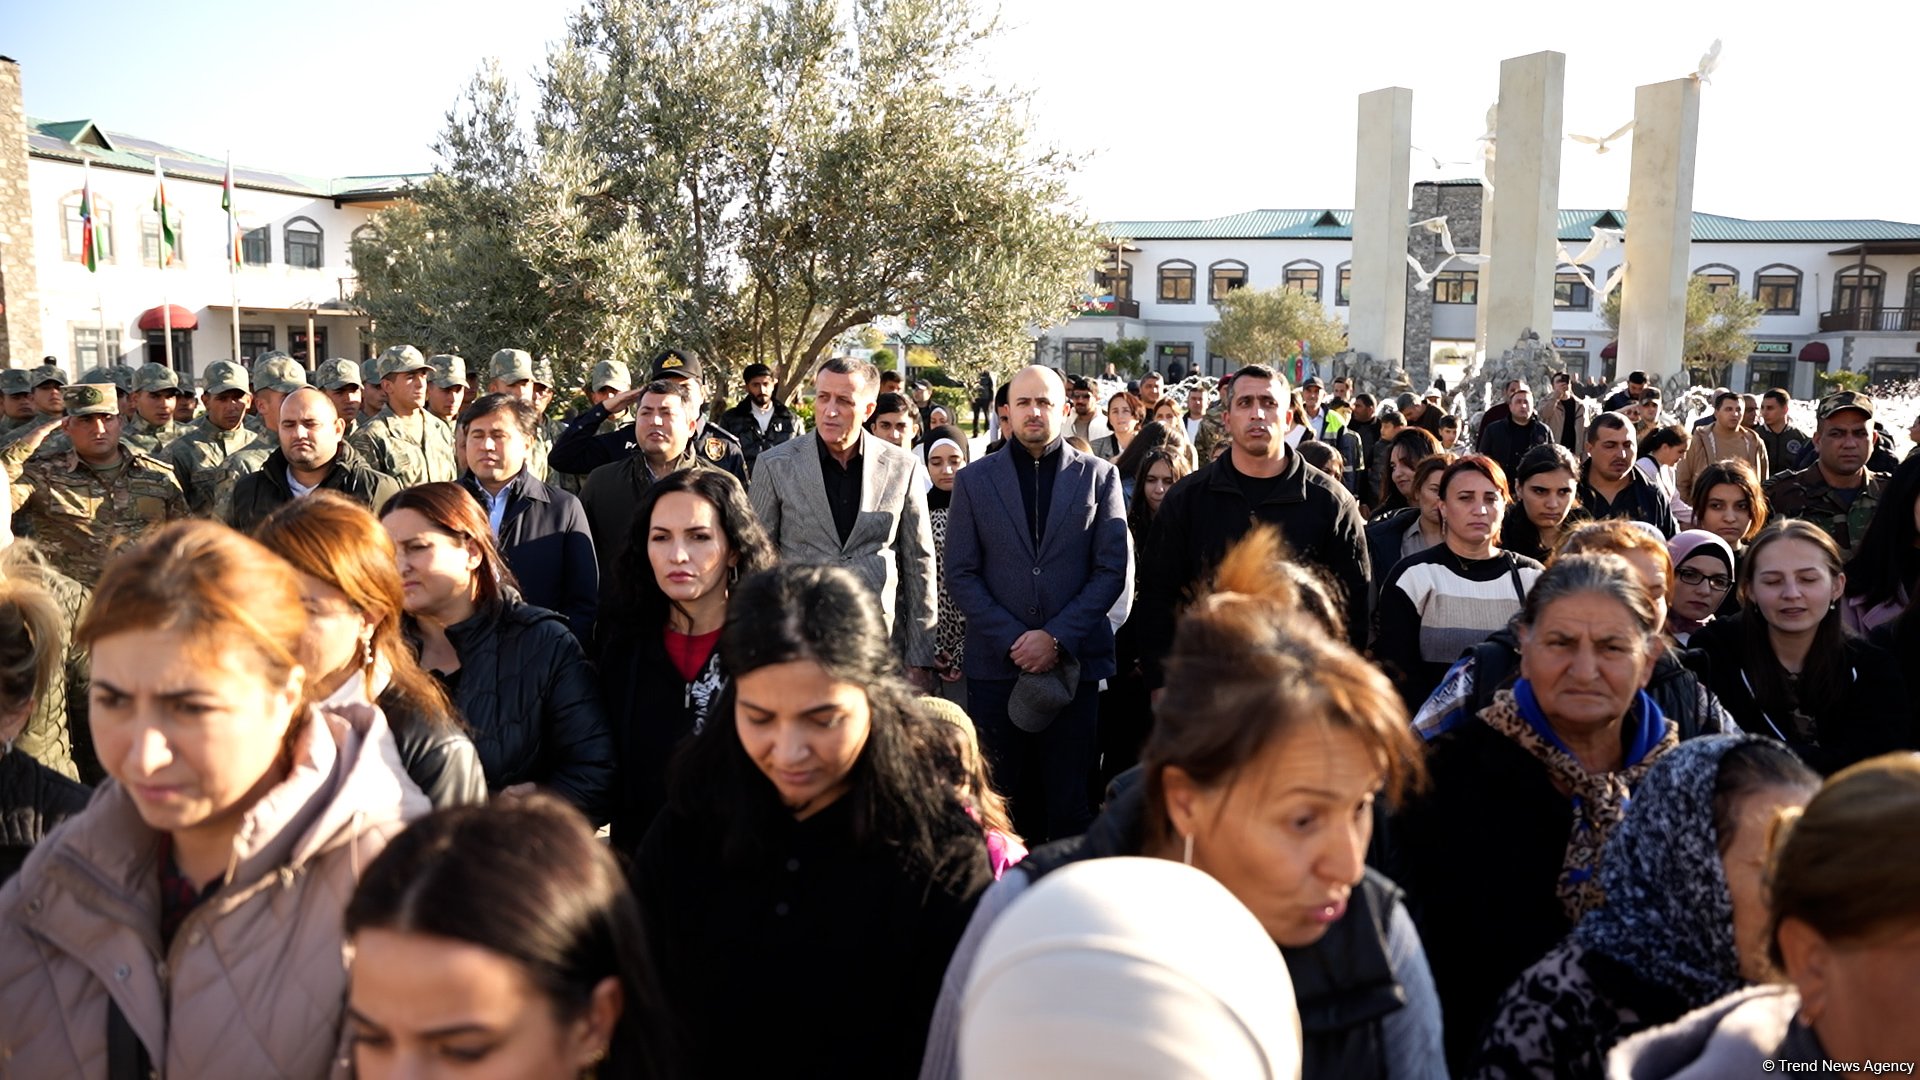
[[[461,657],[453,682],[488,788],[540,784],[593,824],[612,794],[612,732],[593,686],[593,665],[566,619],[507,600],[447,626]]]

